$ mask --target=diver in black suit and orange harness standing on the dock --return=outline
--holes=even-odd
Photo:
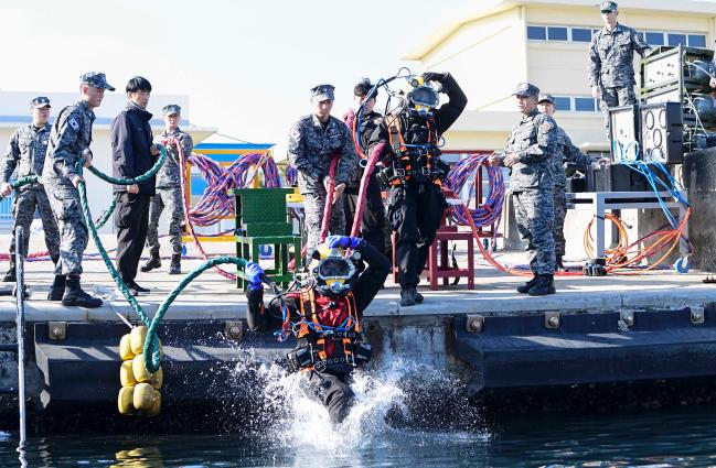
[[[371,151],[384,143],[385,168],[380,178],[388,186],[388,221],[396,232],[395,263],[404,307],[423,302],[416,287],[447,207],[441,184],[449,166],[440,161],[439,140],[468,104],[449,73],[426,73],[415,81],[403,107],[385,116],[370,142]],[[450,98],[440,107],[438,89]]]

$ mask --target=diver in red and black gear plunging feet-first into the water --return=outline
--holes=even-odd
[[[277,295],[268,306],[263,286],[268,279],[258,264],[247,263],[248,327],[255,333],[281,328],[284,338],[296,335],[288,361],[295,371],[308,373],[331,422],[340,423],[355,399],[351,372],[371,359],[371,345],[361,335],[363,311],[387,277],[391,262],[363,239],[345,236],[330,236],[309,259],[300,289]],[[357,273],[361,262],[367,268]]]

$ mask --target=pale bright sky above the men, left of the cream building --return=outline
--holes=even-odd
[[[0,89],[74,91],[97,70],[124,92],[141,75],[188,95],[193,124],[285,152],[312,86],[336,87],[341,117],[362,77],[419,72],[400,57],[468,1],[2,0]]]

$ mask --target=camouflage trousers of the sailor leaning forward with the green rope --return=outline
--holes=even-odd
[[[82,274],[82,255],[88,231],[79,205],[79,192],[67,186],[46,186],[47,199],[60,229],[60,261],[55,274]]]

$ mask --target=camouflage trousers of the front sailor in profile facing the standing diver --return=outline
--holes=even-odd
[[[535,248],[530,269],[534,274],[554,274],[555,242],[552,236],[554,227],[553,191],[527,188],[512,194],[514,197],[517,225],[530,231],[530,241]],[[522,229],[521,229],[522,231]]]

